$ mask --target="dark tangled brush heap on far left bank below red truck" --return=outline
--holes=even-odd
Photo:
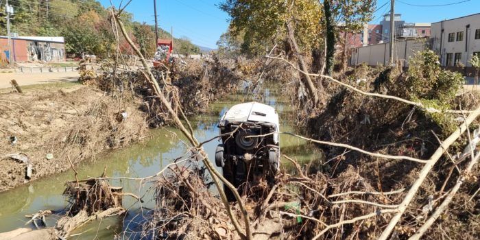
[[[168,66],[161,64],[153,68],[152,73],[172,108],[178,115],[182,114],[182,109],[187,116],[206,112],[212,101],[235,93],[241,82],[241,73],[235,69],[235,64],[217,58],[213,61],[186,60]],[[140,109],[147,113],[151,128],[171,123],[165,106],[158,98],[152,97],[154,88],[143,69],[125,70],[106,62],[101,66],[101,74],[85,84],[95,84],[114,97],[142,99]]]

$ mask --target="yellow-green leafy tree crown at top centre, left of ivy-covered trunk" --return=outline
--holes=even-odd
[[[302,51],[318,47],[322,40],[322,10],[314,0],[227,0],[220,5],[232,20],[232,36],[243,35],[242,52],[265,54],[275,43],[287,45],[287,21],[294,21]]]

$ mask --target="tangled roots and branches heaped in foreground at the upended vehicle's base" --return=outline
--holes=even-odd
[[[375,238],[374,232],[394,213],[389,204],[405,191],[376,191],[374,183],[352,166],[329,178],[320,172],[309,173],[289,160],[296,169],[293,173],[283,168],[273,185],[260,179],[248,182],[250,187],[243,192],[253,239]],[[241,239],[219,196],[209,189],[211,182],[195,162],[190,167],[169,167],[163,175],[156,180],[156,207],[143,224],[144,239]],[[230,207],[245,229],[238,204],[230,202]],[[361,224],[344,222],[363,215],[369,217]]]

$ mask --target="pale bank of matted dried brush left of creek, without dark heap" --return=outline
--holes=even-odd
[[[80,84],[24,92],[0,93],[0,191],[66,171],[69,159],[77,165],[105,149],[130,145],[147,130],[138,99],[115,98]]]

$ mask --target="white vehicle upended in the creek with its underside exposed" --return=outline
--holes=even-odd
[[[248,182],[262,178],[273,182],[280,167],[280,129],[275,108],[257,102],[237,104],[225,112],[218,127],[222,143],[215,151],[215,163],[239,193]],[[228,189],[226,194],[232,200]]]

